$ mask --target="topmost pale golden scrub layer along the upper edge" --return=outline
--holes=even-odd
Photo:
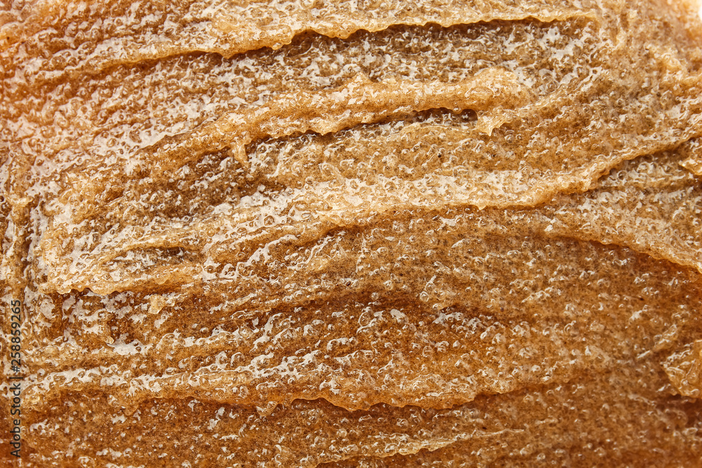
[[[343,1],[324,2],[316,8],[305,1],[286,2],[284,6],[269,1],[114,1],[105,18],[102,2],[35,3],[21,15],[13,11],[5,14],[15,16],[16,21],[0,23],[4,58],[49,46],[53,60],[29,58],[14,66],[35,85],[195,51],[231,57],[263,47],[277,49],[304,32],[346,38],[359,29],[377,32],[392,25],[434,23],[447,27],[529,18],[552,22],[597,18],[599,13],[593,1],[568,0],[541,0],[527,6],[515,6],[511,1],[486,4],[481,0],[432,0],[407,4],[395,0],[365,7],[357,4],[356,8]],[[51,29],[57,22],[69,25],[78,18],[79,34]],[[8,69],[14,67],[8,63]]]

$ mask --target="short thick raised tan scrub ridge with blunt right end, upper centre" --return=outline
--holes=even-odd
[[[374,83],[359,75],[331,91],[282,95],[258,109],[227,114],[190,133],[167,138],[136,157],[138,163],[154,166],[150,177],[158,183],[188,162],[225,146],[234,147],[239,162],[249,166],[246,145],[267,137],[282,138],[308,131],[325,135],[361,123],[442,107],[453,112],[494,109],[497,113],[517,103],[527,105],[531,99],[517,75],[500,68],[485,69],[460,83],[398,79]],[[479,128],[488,134],[492,132],[489,124]]]

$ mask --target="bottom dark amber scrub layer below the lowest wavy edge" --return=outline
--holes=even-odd
[[[276,455],[275,462],[289,466],[314,467],[324,462],[340,463],[366,457],[381,457],[388,462],[399,459],[397,466],[415,466],[402,464],[402,455],[408,457],[406,462],[414,461],[421,466],[421,462],[432,460],[432,455],[441,455],[441,450],[451,453],[451,447],[457,448],[457,462],[469,457],[470,461],[485,463],[504,455],[499,450],[503,443],[508,443],[516,452],[524,449],[538,453],[552,449],[559,443],[561,434],[574,425],[581,429],[575,438],[579,450],[576,453],[591,453],[592,446],[602,446],[618,427],[647,427],[658,435],[645,441],[630,439],[628,450],[647,453],[651,446],[676,447],[691,457],[702,455],[699,437],[694,431],[696,422],[693,418],[678,417],[684,413],[684,402],[658,392],[665,385],[665,377],[661,378],[655,366],[637,363],[643,369],[635,373],[630,370],[634,364],[622,361],[621,368],[601,375],[586,372],[578,382],[530,385],[510,394],[482,396],[472,403],[446,410],[379,405],[349,412],[324,401],[295,401],[263,416],[251,407],[162,399],[147,401],[139,413],[126,415],[121,409],[110,406],[102,396],[88,399],[78,395],[74,408],[67,405],[56,408],[53,421],[56,424],[71,421],[74,430],[85,434],[85,443],[90,446],[110,440],[110,448],[124,454],[121,462],[130,464],[159,463],[159,453],[153,450],[138,456],[126,450],[138,447],[138,436],[147,433],[163,441],[155,452],[178,450],[183,440],[206,441],[197,455],[200,461],[213,466],[232,464],[232,460],[241,464],[269,464],[270,453]],[[637,384],[631,381],[635,377],[645,380]],[[577,406],[574,401],[578,402]],[[599,414],[603,406],[618,411],[592,424],[581,424],[588,414]],[[529,422],[524,422],[524,413],[531,416]],[[110,423],[111,420],[114,422]],[[108,422],[105,432],[91,432],[92,424],[102,422]],[[222,437],[222,434],[235,436]],[[70,434],[54,434],[37,424],[28,432],[26,440],[31,446],[44,447],[50,454],[50,450],[60,450],[72,439]],[[310,451],[310,444],[305,442],[312,440],[315,450]],[[287,449],[276,452],[276,446]],[[425,450],[420,451],[421,448]],[[435,449],[440,451],[434,452]],[[185,453],[187,460],[195,462],[196,454],[192,450]],[[654,453],[657,455],[651,456],[660,456],[662,464],[674,457],[665,449],[654,450]],[[388,458],[393,455],[395,457]],[[41,457],[49,460],[48,455],[40,455],[39,461],[45,460]],[[95,455],[95,459],[109,462],[112,457],[110,451],[105,450],[103,455]],[[608,460],[622,464],[630,461],[626,452],[617,452]]]

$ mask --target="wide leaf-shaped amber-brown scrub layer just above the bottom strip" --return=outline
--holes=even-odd
[[[40,350],[25,358],[29,366],[52,361],[56,371],[41,378],[30,377],[25,399],[40,408],[51,405],[64,392],[108,392],[115,405],[133,408],[162,392],[173,392],[181,397],[262,408],[317,398],[352,410],[376,403],[446,408],[479,394],[511,392],[529,382],[565,382],[583,368],[604,371],[631,356],[634,349],[674,347],[677,337],[688,333],[687,327],[699,326],[693,317],[701,305],[696,293],[699,282],[684,270],[673,273],[673,265],[667,262],[641,258],[626,249],[562,239],[528,239],[516,232],[506,239],[498,235],[471,239],[459,233],[479,225],[485,229],[486,223],[477,220],[466,224],[474,228],[460,220],[426,223],[421,230],[406,233],[416,238],[418,247],[399,243],[392,246],[395,253],[383,250],[387,249],[383,241],[392,234],[387,227],[371,229],[374,234],[355,243],[349,242],[353,237],[347,233],[326,239],[299,255],[300,262],[257,272],[261,279],[277,277],[283,288],[270,283],[266,291],[256,291],[256,273],[234,282],[253,285],[251,293],[264,300],[249,302],[245,314],[239,312],[235,319],[227,320],[230,331],[211,337],[166,333],[152,337],[150,343],[129,345],[127,354],[121,352],[124,345],[114,351],[96,349],[95,353],[53,347]],[[426,239],[421,234],[426,229],[432,236],[442,234],[438,239]],[[484,243],[489,243],[491,250]],[[519,248],[528,254],[519,253]],[[335,250],[346,255],[333,255]],[[382,258],[378,258],[380,252]],[[279,258],[274,252],[270,255]],[[392,274],[373,268],[364,260],[369,255],[375,257],[371,261],[388,265]],[[500,260],[503,258],[509,259],[508,263]],[[312,266],[315,263],[321,265]],[[315,288],[300,274],[290,273],[302,265],[317,270],[316,278],[328,277],[331,284]],[[644,287],[637,283],[637,271],[661,279],[667,272],[675,279],[670,283],[651,281]],[[347,284],[343,296],[335,293],[354,272],[362,272],[366,280]],[[488,277],[484,272],[491,273]],[[338,283],[333,275],[338,275]],[[610,275],[617,278],[616,284],[602,288]],[[532,279],[523,281],[522,277]],[[647,288],[659,296],[651,297]],[[598,289],[600,297],[617,297],[618,307],[605,314],[606,319],[596,319],[590,312],[597,300],[592,303],[589,298],[597,295]],[[380,290],[383,294],[376,300],[385,297],[389,304],[399,304],[404,299],[408,305],[397,306],[399,309],[378,307],[373,302],[353,305],[353,297],[359,300]],[[206,295],[198,293],[199,297]],[[223,301],[234,301],[237,292],[232,285],[220,295]],[[281,295],[299,299],[285,300]],[[314,302],[305,300],[311,296],[317,296]],[[645,312],[640,309],[644,297]],[[190,300],[184,298],[184,302]],[[329,306],[335,300],[350,303],[335,309]],[[292,307],[302,309],[293,314],[294,319],[285,319],[291,316]],[[684,316],[687,324],[671,325],[665,319],[671,308],[682,314],[680,319]],[[154,314],[163,312],[158,309]],[[230,317],[230,313],[226,308],[220,312],[223,317]],[[643,314],[636,325],[639,333],[635,338],[620,339],[618,335],[627,333],[631,316],[637,314]],[[195,316],[191,319],[199,321]],[[253,329],[242,323],[251,320],[257,323]],[[324,331],[324,323],[334,328]],[[337,335],[336,328],[357,331],[351,336]],[[677,331],[668,342],[651,342],[651,337],[673,328]],[[428,338],[434,336],[442,336],[444,344]],[[511,345],[515,342],[520,343],[518,348]],[[571,342],[571,354],[562,353],[564,342]],[[611,345],[593,347],[592,343]],[[383,349],[393,349],[392,354]],[[121,354],[119,359],[117,354]],[[201,362],[207,356],[216,359]],[[427,357],[432,358],[435,368],[413,365]],[[102,362],[113,361],[120,365],[102,366]],[[146,363],[151,369],[147,374],[140,371]],[[166,372],[166,368],[171,370]],[[376,370],[358,371],[368,368]],[[350,382],[354,388],[340,392],[351,386]]]

